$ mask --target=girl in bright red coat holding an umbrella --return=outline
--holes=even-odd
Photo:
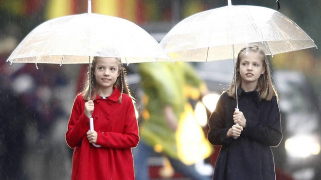
[[[90,68],[91,81],[75,98],[66,133],[74,148],[71,180],[134,180],[131,148],[139,135],[125,69],[111,57],[94,57]],[[89,131],[90,116],[94,131]]]

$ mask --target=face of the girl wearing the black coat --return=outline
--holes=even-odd
[[[262,57],[253,51],[249,51],[248,55],[242,54],[239,70],[243,85],[250,83],[256,86],[261,74],[265,72]]]

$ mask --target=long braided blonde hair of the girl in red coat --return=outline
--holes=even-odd
[[[92,60],[92,63],[90,65],[90,74],[89,74],[89,71],[88,71],[88,74],[87,74],[87,82],[86,82],[86,87],[85,89],[81,92],[83,94],[83,98],[85,100],[88,100],[89,97],[90,97],[90,91],[89,91],[89,87],[91,86],[91,99],[95,99],[97,96],[98,96],[98,85],[97,85],[97,82],[96,82],[96,78],[94,76],[94,72],[95,72],[95,68],[96,68],[96,64],[97,64],[97,59],[99,57],[98,56],[95,56]],[[118,102],[119,103],[122,103],[122,95],[123,93],[130,95],[130,90],[128,88],[128,84],[127,84],[127,81],[126,81],[126,78],[127,78],[127,73],[126,73],[126,69],[125,67],[123,66],[122,62],[121,62],[121,59],[120,58],[115,58],[117,61],[118,61],[118,69],[119,69],[119,74],[120,76],[117,77],[117,80],[116,82],[114,83],[114,87],[117,87],[120,91],[121,91],[121,95],[118,99]],[[89,81],[89,78],[90,78],[90,81]],[[91,84],[89,85],[89,82],[91,82]]]

